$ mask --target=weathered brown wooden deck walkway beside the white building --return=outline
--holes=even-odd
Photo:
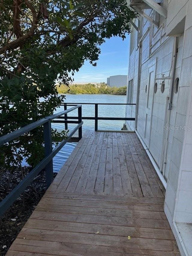
[[[137,135],[88,132],[7,255],[180,255]]]

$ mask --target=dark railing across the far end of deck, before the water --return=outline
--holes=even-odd
[[[67,110],[67,106],[75,106],[75,105],[95,105],[95,116],[82,116],[82,119],[86,120],[95,120],[95,131],[98,131],[98,120],[125,120],[125,121],[135,121],[135,117],[99,117],[98,116],[98,105],[136,105],[134,103],[63,103],[60,106],[64,106],[64,110]],[[69,121],[68,119],[76,119],[76,116],[67,116],[67,113],[64,117],[60,117],[60,119],[64,119],[65,129],[68,129],[68,123],[76,123],[76,121]],[[61,122],[59,120],[55,120],[54,122]]]

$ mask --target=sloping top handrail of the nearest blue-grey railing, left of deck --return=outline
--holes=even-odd
[[[6,135],[3,135],[3,136],[0,137],[0,146],[2,146],[3,144],[5,144],[5,143],[7,143],[7,142],[9,142],[11,140],[16,139],[17,137],[21,136],[24,133],[27,133],[27,132],[37,128],[40,125],[43,125],[48,120],[53,120],[55,118],[63,116],[64,114],[67,114],[67,113],[69,113],[69,112],[71,112],[71,111],[73,111],[73,110],[75,110],[75,109],[77,109],[79,107],[81,107],[81,105],[77,105],[75,107],[71,107],[71,108],[69,108],[67,110],[63,110],[63,111],[61,111],[59,113],[56,113],[56,114],[53,114],[51,116],[46,116],[46,117],[44,117],[44,118],[42,118],[42,119],[40,119],[38,121],[35,121],[35,122],[33,122],[33,123],[29,124],[29,125],[26,125],[24,127],[19,128],[16,131],[13,131],[13,132],[10,132],[10,133],[8,133]]]

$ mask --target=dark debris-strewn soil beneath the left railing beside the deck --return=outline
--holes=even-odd
[[[30,169],[24,167],[23,175],[26,176]],[[54,173],[54,177],[57,173]],[[10,172],[0,170],[0,201],[22,180],[20,170]],[[0,219],[0,255],[5,255],[10,245],[25,225],[26,221],[37,206],[46,191],[45,172],[42,170],[31,182],[12,206]]]

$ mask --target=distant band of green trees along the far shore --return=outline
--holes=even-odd
[[[106,83],[99,84],[73,84],[66,86],[64,84],[56,86],[58,93],[61,94],[113,94],[126,95],[127,86],[110,87]]]

